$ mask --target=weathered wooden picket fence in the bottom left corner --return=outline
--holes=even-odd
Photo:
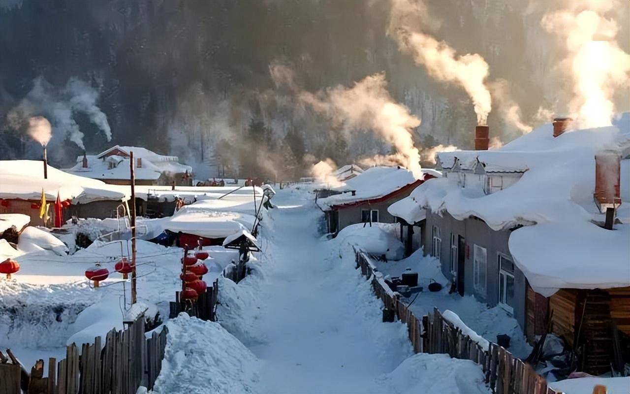
[[[101,337],[93,344],[83,344],[81,354],[75,344],[66,347],[66,358],[48,363],[48,377],[42,378],[43,362],[31,369],[25,385],[28,394],[135,394],[140,386],[153,388],[162,368],[166,327],[151,338],[144,335],[144,315],[125,330],[108,332],[101,349]],[[17,364],[16,361],[13,364]],[[6,364],[8,376],[21,367]],[[4,365],[0,364],[0,377]],[[3,386],[4,384],[4,386]],[[10,385],[10,386],[9,386]],[[0,392],[20,394],[20,382],[0,380]]]

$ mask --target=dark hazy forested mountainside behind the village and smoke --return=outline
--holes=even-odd
[[[441,21],[433,35],[458,53],[483,55],[536,125],[540,107],[563,106],[554,69],[563,54],[540,26],[561,3],[440,0],[428,9]],[[618,37],[628,52],[623,4]],[[192,165],[214,158],[228,173],[278,178],[302,175],[320,158],[343,165],[390,153],[371,130],[347,139],[297,103],[273,83],[275,63],[311,92],[384,72],[391,96],[421,119],[417,146],[471,148],[469,98],[399,52],[386,35],[389,8],[385,0],[0,0],[0,159],[40,157],[24,134],[25,113],[57,119],[49,150],[57,166],[83,153],[77,141],[88,153],[145,146]],[[627,90],[616,101],[627,110]],[[503,142],[520,135],[497,111],[488,124]]]

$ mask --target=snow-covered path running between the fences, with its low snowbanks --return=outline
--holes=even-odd
[[[289,188],[278,192],[274,203],[278,208],[263,219],[259,238],[263,253],[249,264],[250,275],[239,284],[219,282],[219,323],[258,362],[251,362],[249,355],[241,363],[232,362],[229,349],[207,340],[177,342],[175,364],[188,357],[195,364],[202,356],[190,354],[198,352],[214,353],[216,360],[208,361],[211,369],[196,375],[181,372],[201,388],[168,385],[169,393],[206,393],[202,386],[206,380],[210,391],[217,392],[488,393],[481,368],[473,362],[413,355],[406,325],[381,322],[381,301],[355,270],[350,245],[320,238],[321,212],[312,195]],[[199,328],[195,319],[186,322],[193,337],[202,335],[195,331]],[[225,336],[214,326],[203,332]],[[207,348],[199,349],[203,346]],[[241,354],[242,349],[235,347]],[[228,360],[219,364],[219,357]],[[186,368],[171,368],[169,352],[167,359],[162,382]],[[256,371],[239,369],[248,367]],[[239,385],[230,380],[233,375],[227,375],[227,369],[239,371]]]

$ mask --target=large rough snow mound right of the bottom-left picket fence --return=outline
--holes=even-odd
[[[260,364],[219,323],[181,313],[168,336],[155,394],[255,393]]]

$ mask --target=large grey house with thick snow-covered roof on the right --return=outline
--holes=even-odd
[[[555,122],[500,149],[439,153],[444,177],[412,194],[427,218],[425,253],[457,291],[505,308],[530,340],[551,325],[581,347],[591,373],[610,370],[612,327],[630,343],[628,115],[611,127],[564,132]]]

